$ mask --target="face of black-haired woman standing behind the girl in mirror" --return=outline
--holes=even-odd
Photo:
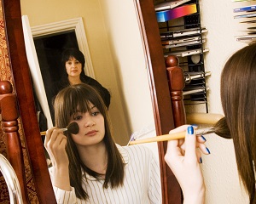
[[[66,64],[66,71],[69,77],[79,77],[82,72],[82,64],[79,62],[78,59],[71,57],[67,60]]]

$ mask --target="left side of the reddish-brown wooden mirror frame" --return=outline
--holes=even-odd
[[[32,81],[26,59],[19,0],[3,0],[9,61],[20,108],[20,121],[30,156],[32,176],[40,203],[56,203],[49,178],[44,146],[32,94]]]

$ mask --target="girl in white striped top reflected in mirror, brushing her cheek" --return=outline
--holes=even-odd
[[[59,128],[71,122],[79,133]],[[153,152],[115,144],[108,109],[95,88],[79,83],[62,89],[55,98],[55,125],[44,146],[57,203],[162,203]]]

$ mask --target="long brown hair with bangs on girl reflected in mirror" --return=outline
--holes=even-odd
[[[90,103],[95,105],[104,117],[105,136],[103,141],[108,151],[108,167],[103,187],[108,188],[108,184],[110,184],[114,188],[123,184],[124,163],[114,143],[107,107],[96,89],[84,83],[62,89],[55,99],[55,125],[57,127],[67,127],[71,116],[77,110],[81,112],[90,111]],[[67,133],[67,156],[69,159],[70,183],[75,189],[76,196],[80,199],[86,199],[88,194],[82,188],[81,168],[95,178],[101,175],[86,167],[81,161],[79,151],[70,133]]]

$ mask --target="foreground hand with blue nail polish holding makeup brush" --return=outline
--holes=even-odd
[[[165,160],[183,190],[183,203],[204,203],[205,184],[200,167],[201,152],[207,155],[210,151],[205,145],[206,139],[195,136],[192,126],[183,125],[170,133],[185,130],[185,139],[168,141]]]

